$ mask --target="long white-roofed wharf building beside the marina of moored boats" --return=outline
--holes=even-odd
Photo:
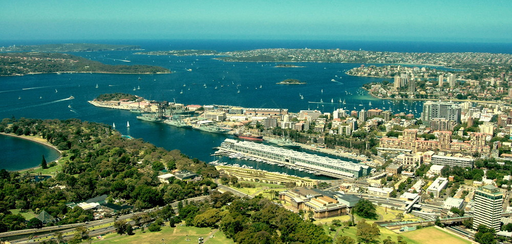
[[[301,168],[325,172],[329,175],[358,178],[369,175],[371,172],[371,168],[366,165],[267,146],[264,144],[253,143],[252,141],[225,139],[221,144],[221,149],[241,152],[249,156],[264,158],[275,162],[282,162],[286,165],[294,165]]]

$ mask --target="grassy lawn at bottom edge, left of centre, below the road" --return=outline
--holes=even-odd
[[[210,235],[214,235],[215,237],[209,238]],[[210,229],[210,228],[197,228],[190,226],[180,226],[178,225],[175,228],[171,228],[168,225],[162,227],[161,231],[158,232],[150,232],[147,229],[142,233],[140,230],[135,231],[134,235],[118,235],[118,234],[108,234],[103,236],[103,239],[94,239],[93,242],[101,242],[101,243],[136,243],[136,244],[146,244],[146,243],[197,243],[198,237],[203,237],[205,243],[218,243],[218,244],[228,244],[233,243],[231,239],[226,238],[224,233],[219,231],[218,229]],[[189,238],[190,241],[186,241]],[[163,241],[162,241],[163,239]],[[86,243],[86,242],[83,242]]]

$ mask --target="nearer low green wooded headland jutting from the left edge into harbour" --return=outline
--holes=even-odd
[[[0,53],[0,75],[32,73],[90,72],[118,74],[170,73],[168,69],[149,65],[105,65],[66,53]]]

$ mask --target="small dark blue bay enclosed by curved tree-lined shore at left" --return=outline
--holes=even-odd
[[[47,162],[60,155],[58,151],[33,141],[13,136],[0,135],[0,169],[22,170],[41,164],[42,155]]]

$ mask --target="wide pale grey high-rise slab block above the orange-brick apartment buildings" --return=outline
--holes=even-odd
[[[445,118],[460,123],[461,106],[452,101],[426,101],[423,104],[421,120],[425,126],[430,126],[433,118]]]

